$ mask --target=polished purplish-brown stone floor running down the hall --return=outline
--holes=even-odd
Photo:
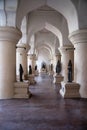
[[[0,100],[0,130],[87,130],[87,99],[63,99],[49,76],[30,99]]]

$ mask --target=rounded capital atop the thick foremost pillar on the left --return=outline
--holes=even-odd
[[[14,27],[0,27],[0,41],[10,41],[17,43],[21,38],[22,33],[20,30]]]

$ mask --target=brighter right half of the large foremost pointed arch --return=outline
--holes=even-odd
[[[48,0],[47,2],[50,7],[60,12],[66,18],[69,33],[79,28],[77,10],[71,0]]]

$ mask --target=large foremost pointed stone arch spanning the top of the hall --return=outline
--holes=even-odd
[[[71,0],[26,0],[26,2],[21,0],[17,12],[17,26],[20,27],[21,21],[26,14],[44,5],[55,9],[65,17],[68,23],[69,33],[79,28],[77,11]]]

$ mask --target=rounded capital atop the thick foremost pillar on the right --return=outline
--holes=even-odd
[[[69,39],[73,45],[78,43],[87,43],[87,29],[72,32],[69,35]]]

